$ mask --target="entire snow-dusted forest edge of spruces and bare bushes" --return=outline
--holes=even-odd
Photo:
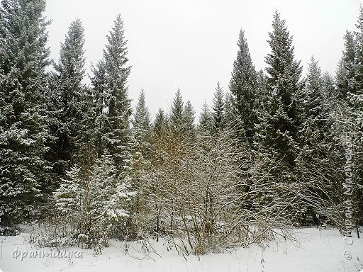
[[[1,1],[0,232],[40,220],[54,226],[47,245],[101,249],[111,237],[152,235],[203,254],[290,225],[350,232],[346,200],[352,225],[362,225],[362,8],[334,76],[312,57],[303,78],[278,12],[264,71],[240,30],[228,91],[217,83],[198,121],[180,90],[153,121],[143,91],[133,111],[120,15],[87,86],[82,22],[71,23],[53,62],[44,10],[44,0]]]

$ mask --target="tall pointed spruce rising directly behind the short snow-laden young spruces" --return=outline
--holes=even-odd
[[[99,130],[99,153],[108,153],[121,173],[125,159],[130,156],[130,115],[127,79],[127,47],[123,20],[119,14],[107,35],[108,45],[104,60],[94,69],[95,100],[98,109],[96,119]]]

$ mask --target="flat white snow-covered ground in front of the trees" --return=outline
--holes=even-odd
[[[167,242],[146,245],[111,241],[111,246],[94,256],[92,250],[67,249],[71,258],[51,257],[55,249],[39,248],[28,243],[29,234],[0,237],[0,271],[171,271],[171,272],[357,272],[363,268],[363,238],[344,241],[336,229],[294,229],[297,241],[279,239],[265,246],[252,245],[222,254],[179,256]],[[145,246],[145,245],[144,245]],[[153,249],[157,254],[152,253]],[[169,250],[168,250],[169,249]],[[53,250],[49,253],[49,251]],[[37,256],[38,254],[38,256]],[[79,256],[82,254],[82,258]],[[351,259],[349,254],[351,254]],[[147,257],[149,255],[149,257]],[[23,256],[23,258],[22,258]]]

